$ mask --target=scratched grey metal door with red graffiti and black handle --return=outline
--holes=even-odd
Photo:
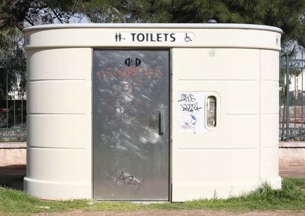
[[[94,199],[169,200],[169,54],[94,50]]]

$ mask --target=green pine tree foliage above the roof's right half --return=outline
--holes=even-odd
[[[261,24],[282,28],[282,44],[296,40],[305,45],[304,0],[162,0],[172,8],[171,21]]]

